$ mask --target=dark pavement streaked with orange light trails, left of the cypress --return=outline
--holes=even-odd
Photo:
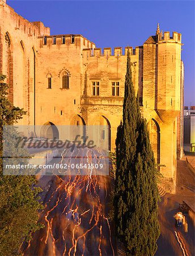
[[[67,150],[63,150],[59,162],[66,160],[70,166],[73,152],[67,155]],[[79,150],[74,155],[79,155]],[[88,149],[86,156],[87,163],[99,163],[103,158],[101,152],[96,155]],[[93,175],[93,170],[82,176],[80,170],[77,171],[74,176],[60,176],[53,170],[54,184],[40,213],[40,222],[45,228],[32,235],[24,256],[115,256],[114,232],[111,232],[106,207],[109,176]]]

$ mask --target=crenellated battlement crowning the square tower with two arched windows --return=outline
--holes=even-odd
[[[75,45],[86,48],[95,48],[95,44],[90,40],[84,38],[82,35],[75,34],[62,34],[62,35],[49,35],[39,36],[40,47],[64,44],[66,46]]]

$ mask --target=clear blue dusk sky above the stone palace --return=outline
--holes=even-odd
[[[182,34],[184,104],[195,105],[194,1],[7,1],[29,21],[40,20],[51,34],[82,34],[96,47],[141,46],[160,30]]]

